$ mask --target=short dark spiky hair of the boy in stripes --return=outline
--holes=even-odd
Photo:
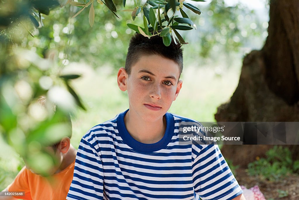
[[[175,61],[179,65],[180,75],[183,71],[183,49],[181,43],[172,38],[169,46],[165,46],[162,37],[159,35],[150,38],[135,33],[130,40],[126,57],[126,73],[130,75],[131,67],[142,55],[160,55],[164,58]]]

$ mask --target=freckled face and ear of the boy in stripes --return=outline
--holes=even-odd
[[[179,65],[160,55],[144,55],[131,67],[118,71],[118,85],[128,91],[130,115],[157,121],[176,100],[182,86]]]

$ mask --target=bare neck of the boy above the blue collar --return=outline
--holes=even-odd
[[[124,122],[129,134],[135,140],[144,144],[159,142],[166,130],[166,119],[164,116],[157,121],[148,122],[130,114],[129,110],[124,117]]]

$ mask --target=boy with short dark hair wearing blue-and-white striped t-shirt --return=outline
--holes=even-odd
[[[243,199],[217,145],[182,145],[168,113],[182,87],[182,49],[135,34],[118,86],[129,109],[81,139],[68,200]]]

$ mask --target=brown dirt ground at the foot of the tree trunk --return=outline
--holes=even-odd
[[[284,177],[279,182],[271,182],[268,180],[262,180],[259,177],[248,176],[245,169],[239,168],[236,170],[235,177],[239,185],[244,185],[248,189],[258,185],[267,200],[271,198],[275,200],[299,200],[298,174],[292,174],[288,177]],[[286,191],[286,193],[279,193],[279,190]],[[283,194],[285,194],[284,197],[279,197],[283,196]]]

